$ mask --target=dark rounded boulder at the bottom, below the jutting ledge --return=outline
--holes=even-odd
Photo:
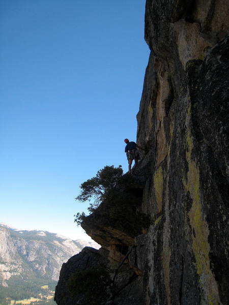
[[[108,261],[101,252],[85,247],[63,264],[55,289],[57,303],[97,305],[109,298]]]

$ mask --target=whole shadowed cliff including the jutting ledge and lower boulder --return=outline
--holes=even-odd
[[[146,156],[135,170],[143,186],[128,190],[127,181],[116,212],[106,202],[82,223],[102,245],[109,274],[106,296],[90,304],[229,303],[228,4],[146,2],[151,54],[137,114]],[[66,301],[66,275],[79,268],[71,264],[62,268],[58,305],[87,303],[90,294],[81,287],[79,299],[76,288]]]

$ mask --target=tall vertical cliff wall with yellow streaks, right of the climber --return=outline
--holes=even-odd
[[[147,304],[227,304],[228,1],[147,1]]]

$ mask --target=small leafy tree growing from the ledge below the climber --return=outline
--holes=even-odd
[[[80,185],[81,192],[75,199],[81,202],[85,202],[87,200],[90,201],[93,199],[93,202],[90,202],[88,207],[91,214],[106,198],[108,192],[116,187],[117,182],[122,176],[123,169],[121,165],[118,167],[107,165],[103,169],[100,169],[95,177],[84,181]],[[84,212],[78,212],[76,215],[74,215],[74,217],[77,225],[80,225],[83,219],[87,216]]]

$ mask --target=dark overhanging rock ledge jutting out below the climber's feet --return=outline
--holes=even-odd
[[[135,236],[146,232],[150,225],[149,218],[141,212],[145,183],[145,177],[124,175],[116,189],[110,190],[100,206],[82,222],[82,228],[105,248],[127,249],[133,245]]]

